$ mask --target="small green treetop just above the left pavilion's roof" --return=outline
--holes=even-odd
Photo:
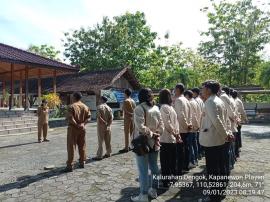
[[[60,51],[56,50],[55,47],[49,46],[47,44],[43,44],[40,46],[30,45],[28,51],[53,60],[60,60]]]

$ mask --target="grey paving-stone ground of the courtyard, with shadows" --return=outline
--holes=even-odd
[[[97,147],[96,124],[87,128],[88,156]],[[1,137],[0,201],[129,201],[138,193],[133,153],[117,154],[123,144],[123,124],[113,123],[114,155],[99,162],[89,160],[85,169],[63,174],[66,161],[66,129],[50,131],[50,143],[36,143],[37,137]],[[233,173],[263,172],[264,196],[229,196],[225,201],[270,201],[270,126],[249,125],[243,128],[241,158]],[[76,156],[77,158],[77,156]],[[46,171],[45,166],[55,165]],[[188,175],[203,172],[204,160]],[[159,191],[152,201],[198,201],[202,190],[171,188]]]

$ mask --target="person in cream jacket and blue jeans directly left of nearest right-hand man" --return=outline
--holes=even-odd
[[[195,168],[198,165],[198,144],[197,144],[197,132],[200,128],[199,125],[199,115],[200,115],[200,107],[199,104],[193,98],[193,93],[190,90],[185,91],[185,97],[190,103],[190,111],[191,111],[191,124],[192,129],[190,130],[190,134],[188,136],[188,145],[189,145],[189,169]]]

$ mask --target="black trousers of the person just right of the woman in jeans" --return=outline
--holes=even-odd
[[[160,165],[163,176],[176,175],[176,144],[161,143],[160,147]],[[163,186],[169,186],[171,181],[164,180]]]

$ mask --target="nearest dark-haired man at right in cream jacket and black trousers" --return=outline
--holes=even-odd
[[[202,114],[199,141],[205,149],[206,170],[210,183],[214,186],[210,188],[210,201],[221,201],[222,196],[218,194],[225,188],[220,185],[217,179],[227,175],[226,170],[226,145],[230,133],[227,130],[227,112],[224,102],[217,96],[220,84],[216,81],[207,81],[203,84],[203,96],[206,98],[205,108]],[[216,192],[216,194],[213,194]],[[206,201],[206,200],[205,200]]]

